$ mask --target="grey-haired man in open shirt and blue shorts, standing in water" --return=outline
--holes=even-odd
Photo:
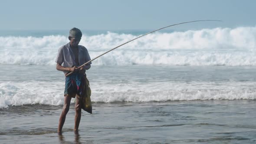
[[[78,45],[82,37],[82,32],[77,28],[72,28],[69,31],[70,42],[59,48],[56,57],[56,69],[63,71],[64,74],[73,72],[72,75],[66,77],[65,91],[64,91],[64,105],[62,113],[59,118],[58,132],[62,131],[66,115],[69,111],[70,101],[76,98],[75,101],[75,126],[74,131],[78,131],[80,119],[82,100],[81,96],[84,95],[85,85],[85,70],[90,69],[92,62],[77,69],[80,65],[91,60],[87,49],[84,46]]]

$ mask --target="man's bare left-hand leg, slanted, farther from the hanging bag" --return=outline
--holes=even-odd
[[[66,115],[69,112],[69,106],[70,106],[70,101],[71,101],[71,96],[65,96],[64,97],[64,105],[62,108],[62,113],[60,114],[59,117],[59,127],[58,127],[58,132],[62,131],[62,127],[64,125],[64,122],[66,120]]]

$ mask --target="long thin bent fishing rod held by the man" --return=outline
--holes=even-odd
[[[194,23],[194,22],[200,22],[200,21],[220,21],[220,22],[221,22],[221,20],[194,20],[194,21],[184,22],[184,23]],[[170,26],[176,26],[176,25],[180,25],[180,24],[184,24],[184,23],[177,23],[177,24],[173,24],[173,25],[170,25]],[[158,30],[165,29],[165,28],[170,27],[170,26],[165,26],[165,27],[163,27],[163,28],[160,28],[160,29],[154,30],[154,31],[152,31],[152,32],[146,33],[146,34],[144,34],[144,35],[142,35],[142,36],[146,36],[146,35],[148,35],[148,34],[150,34],[150,33],[154,33],[154,32],[156,32],[156,31],[158,31]],[[142,37],[142,36],[136,37],[135,39],[138,39],[138,38],[140,38],[140,37]],[[134,41],[135,39],[131,39],[130,41],[128,41],[128,42],[126,42],[126,43],[130,43],[131,41]],[[97,59],[98,57],[101,57],[101,56],[105,55],[106,53],[111,52],[112,50],[117,49],[118,47],[125,45],[126,43],[123,43],[123,44],[121,44],[121,45],[119,45],[119,46],[117,46],[117,47],[115,47],[115,48],[113,48],[113,49],[110,49],[109,51],[107,51],[107,52],[105,52],[105,53],[103,53],[103,54],[101,54],[101,55],[95,57],[94,59],[92,59],[92,60],[90,60],[90,61],[84,63],[83,65],[79,66],[77,69],[82,68],[83,66],[85,66],[85,65],[88,64],[89,62],[92,62],[93,60]],[[69,75],[71,75],[72,73],[73,73],[73,72],[69,72],[69,73],[66,74],[65,76],[69,76]]]

